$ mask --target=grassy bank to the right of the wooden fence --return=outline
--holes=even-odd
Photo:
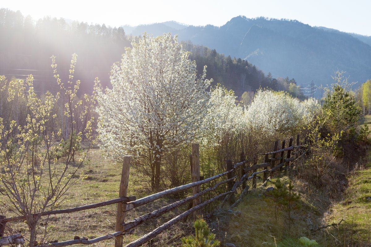
[[[366,116],[364,122],[371,129],[371,116]],[[316,240],[323,247],[371,246],[371,150],[354,167],[347,180],[340,181],[340,185],[348,186],[345,188],[344,185],[341,196],[332,195],[326,188],[312,186],[296,175],[290,176],[295,191],[301,196],[302,206],[293,210],[290,219],[284,210],[280,210],[277,220],[273,217],[272,207],[262,196],[267,194],[266,188],[259,188],[258,184],[257,190],[234,208],[234,211],[242,212],[241,216],[216,214],[213,218],[216,223],[212,227],[222,243],[234,243],[237,247],[300,247],[303,245],[298,238],[303,236]],[[287,182],[289,176],[280,179]],[[316,230],[334,223],[335,226]]]

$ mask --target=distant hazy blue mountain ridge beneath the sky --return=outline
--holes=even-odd
[[[246,59],[273,77],[293,77],[298,84],[312,79],[316,85],[331,83],[337,69],[347,71],[351,81],[371,78],[371,37],[295,20],[234,17],[221,27],[166,23],[138,26],[135,36],[146,31],[154,36],[177,33],[180,40],[216,49],[226,56]]]

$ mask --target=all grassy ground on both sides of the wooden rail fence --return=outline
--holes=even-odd
[[[371,117],[367,117],[365,121],[371,123]],[[371,160],[371,151],[368,153],[368,160]],[[371,162],[366,162],[365,167],[371,167]],[[343,198],[331,197],[328,191],[316,188],[305,180],[290,175],[294,181],[295,191],[301,195],[300,204],[302,205],[301,209],[291,213],[290,219],[282,210],[277,220],[273,217],[272,208],[267,206],[262,197],[266,193],[266,188],[259,186],[260,181],[258,188],[248,194],[243,203],[234,208],[234,211],[240,211],[241,215],[228,213],[226,210],[217,211],[209,217],[212,222],[211,227],[222,244],[234,243],[237,247],[301,246],[298,238],[302,236],[315,239],[320,246],[371,246],[371,200],[368,200],[371,197],[371,169],[361,168],[362,164],[359,164],[357,171],[349,175],[349,187],[345,190]],[[67,199],[61,208],[118,197],[121,164],[106,160],[102,151],[94,148],[88,154],[82,170],[87,178],[66,193]],[[144,186],[134,182],[135,170],[131,170],[130,176],[128,195],[140,198],[150,194]],[[281,178],[286,182],[288,179],[287,175]],[[165,198],[145,207],[131,210],[127,219],[135,218],[174,200],[171,197]],[[178,210],[184,211],[184,207]],[[138,227],[135,234],[124,237],[124,243],[147,233],[164,223],[165,219],[174,217],[175,214],[175,212],[170,212],[162,219],[152,220],[150,224]],[[345,221],[339,226],[312,232],[320,226],[338,223],[342,219]],[[111,205],[72,214],[51,216],[46,227],[50,240],[64,241],[72,239],[73,236],[93,238],[112,233],[115,231],[115,221],[116,205]],[[175,225],[171,231],[166,231],[162,237],[157,238],[157,246],[176,246],[180,243],[181,236],[189,234],[190,224],[188,222]],[[22,231],[27,237],[27,227],[24,223],[20,222],[10,226]],[[111,246],[112,244],[113,240],[110,240],[97,243],[95,246]]]

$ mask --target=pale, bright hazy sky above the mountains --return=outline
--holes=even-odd
[[[371,36],[371,0],[0,0],[0,8],[20,10],[35,20],[63,17],[112,27],[169,20],[221,26],[239,15],[265,16]]]

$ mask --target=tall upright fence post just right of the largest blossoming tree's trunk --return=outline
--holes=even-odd
[[[198,143],[192,144],[192,182],[200,181],[200,146]],[[201,191],[199,185],[192,187],[192,193],[197,194]],[[201,197],[193,199],[193,207],[201,203]],[[194,211],[193,218],[196,220],[198,215],[201,215],[201,209]]]

